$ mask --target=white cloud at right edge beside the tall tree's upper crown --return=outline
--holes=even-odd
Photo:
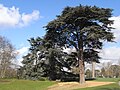
[[[120,41],[120,16],[111,17],[110,20],[114,20],[114,24],[111,26],[115,28],[112,30],[116,37],[115,41]]]

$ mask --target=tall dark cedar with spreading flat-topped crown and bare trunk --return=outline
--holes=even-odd
[[[110,27],[113,21],[109,20],[111,12],[109,8],[96,6],[66,7],[46,26],[46,40],[53,45],[76,49],[81,84],[85,83],[84,52],[102,49],[103,41],[113,41]]]

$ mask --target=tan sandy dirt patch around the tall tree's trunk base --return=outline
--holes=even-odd
[[[114,82],[87,81],[83,85],[80,85],[78,82],[61,82],[48,87],[48,90],[73,90],[77,88],[95,87],[95,86],[107,85],[111,83]]]

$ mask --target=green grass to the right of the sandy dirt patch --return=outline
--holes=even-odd
[[[118,78],[98,78],[94,81],[115,82],[115,83],[109,84],[109,85],[97,86],[97,87],[80,88],[75,90],[120,90],[120,86],[118,85],[120,78],[119,79]]]

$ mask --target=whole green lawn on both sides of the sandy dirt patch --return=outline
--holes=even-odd
[[[110,85],[80,88],[76,90],[120,90],[118,81],[120,79],[115,78],[99,78],[95,81],[111,81],[116,82]],[[55,84],[56,82],[51,81],[29,81],[29,80],[16,80],[16,79],[1,79],[0,80],[0,90],[47,90],[48,86]]]

